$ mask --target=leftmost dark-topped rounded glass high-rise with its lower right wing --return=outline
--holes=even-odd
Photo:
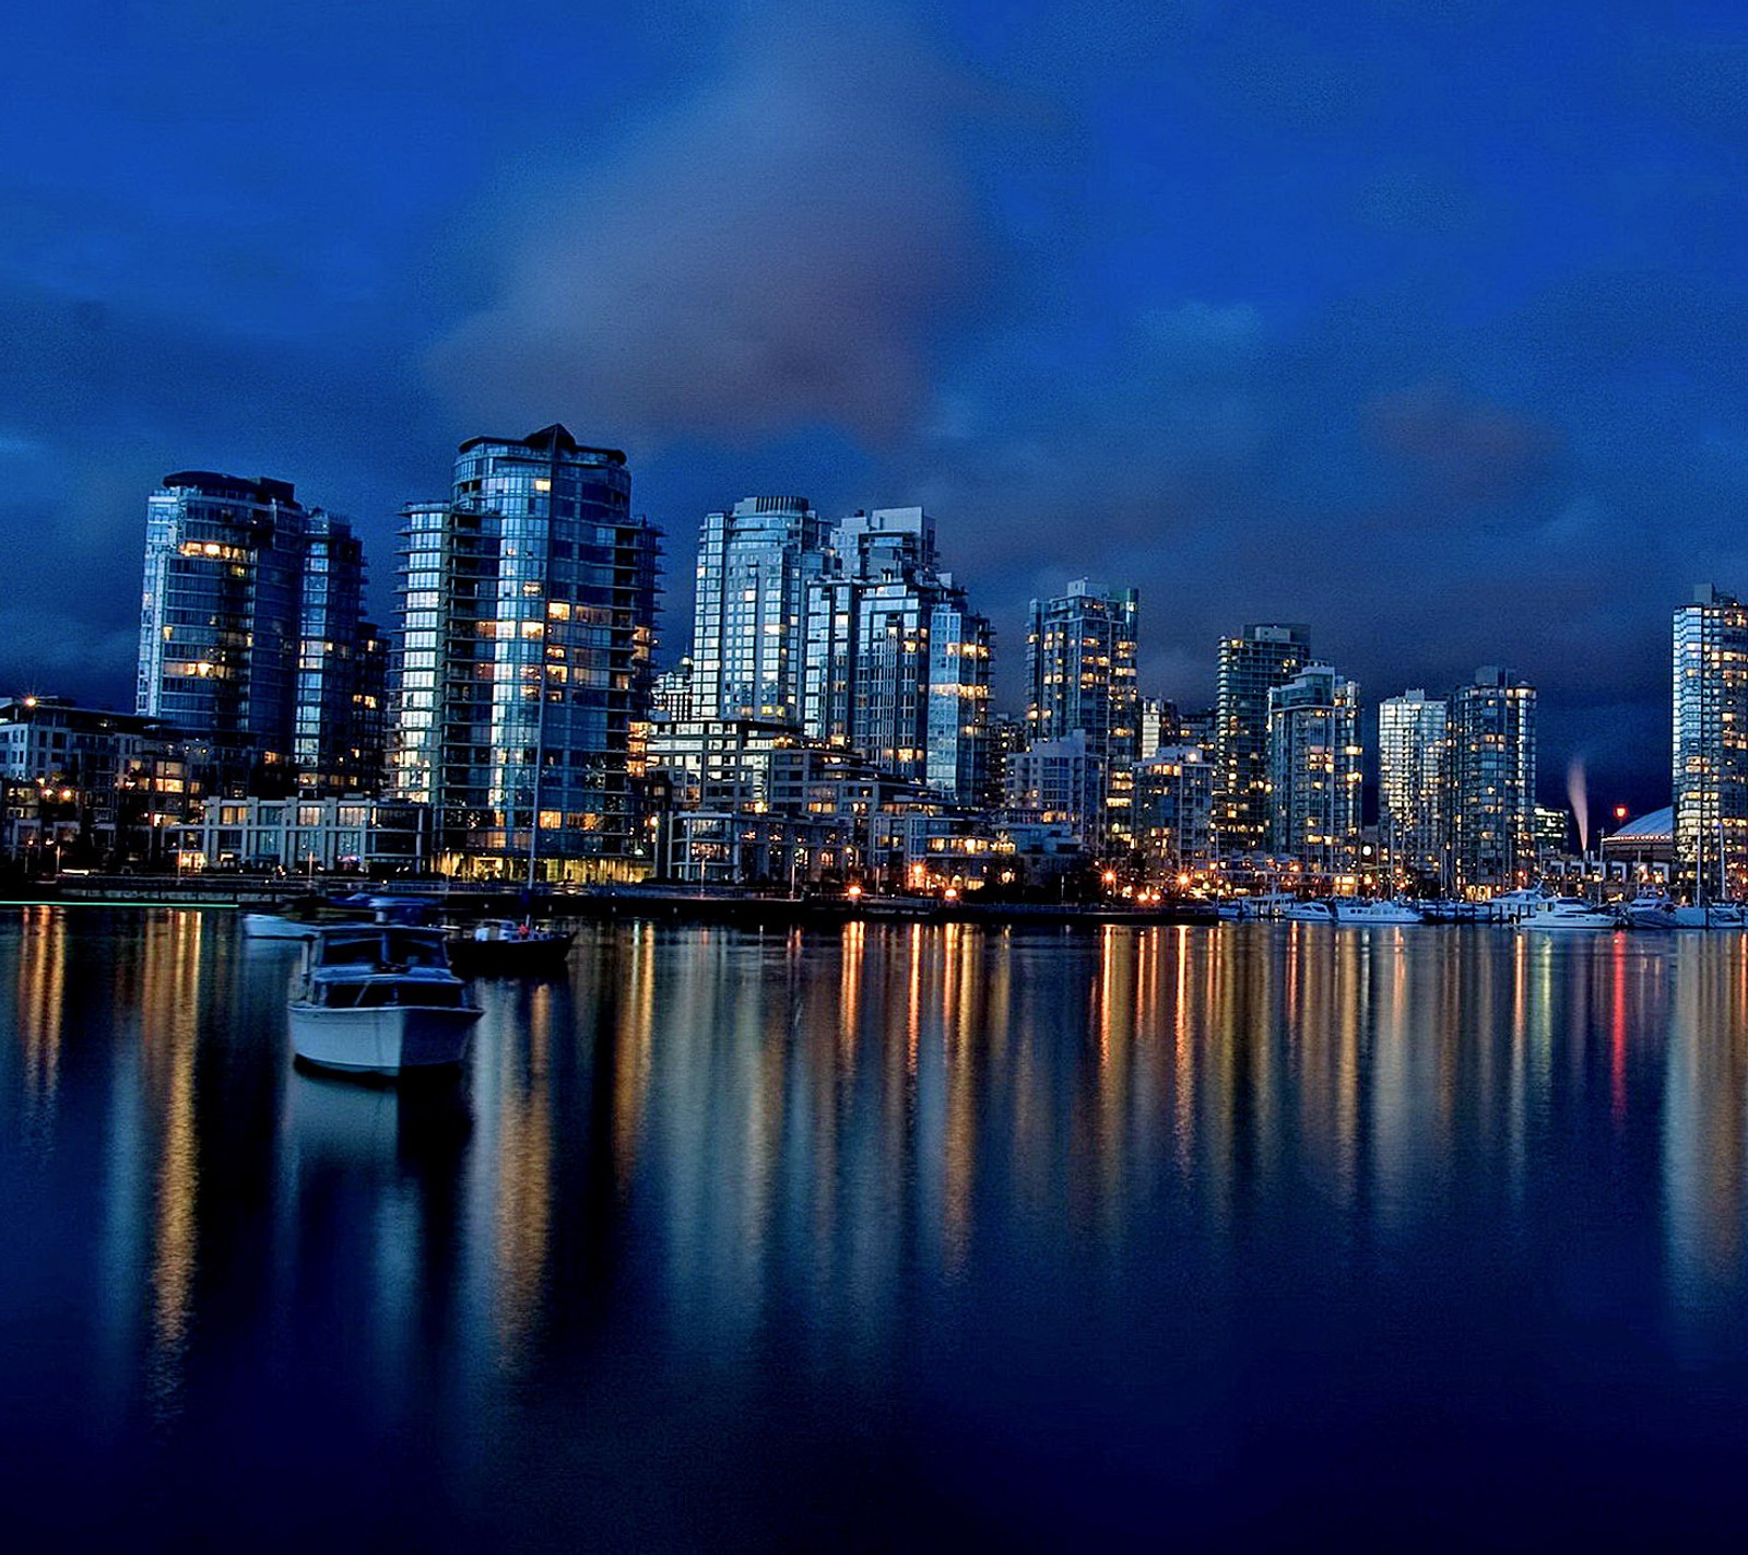
[[[222,784],[371,784],[369,638],[351,525],[287,481],[178,471],[147,500],[135,707],[205,742]]]

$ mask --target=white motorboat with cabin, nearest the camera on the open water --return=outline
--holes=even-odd
[[[461,1063],[479,1020],[440,929],[343,924],[315,932],[290,1004],[292,1051],[351,1074]]]

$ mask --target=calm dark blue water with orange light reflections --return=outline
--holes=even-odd
[[[1748,939],[586,929],[404,1093],[295,957],[0,918],[31,1546],[1748,1525]]]

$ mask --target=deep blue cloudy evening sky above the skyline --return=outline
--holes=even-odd
[[[996,623],[1143,593],[1369,701],[1477,663],[1668,794],[1668,616],[1748,589],[1739,5],[37,7],[0,65],[0,682],[131,701],[145,493],[397,507],[563,420],[668,530],[925,502]],[[1005,651],[1005,652],[1003,652]]]

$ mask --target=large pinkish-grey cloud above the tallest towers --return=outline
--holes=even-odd
[[[521,191],[500,294],[430,381],[481,425],[575,416],[633,446],[898,436],[972,280],[967,101],[891,17],[781,7],[713,86]]]

